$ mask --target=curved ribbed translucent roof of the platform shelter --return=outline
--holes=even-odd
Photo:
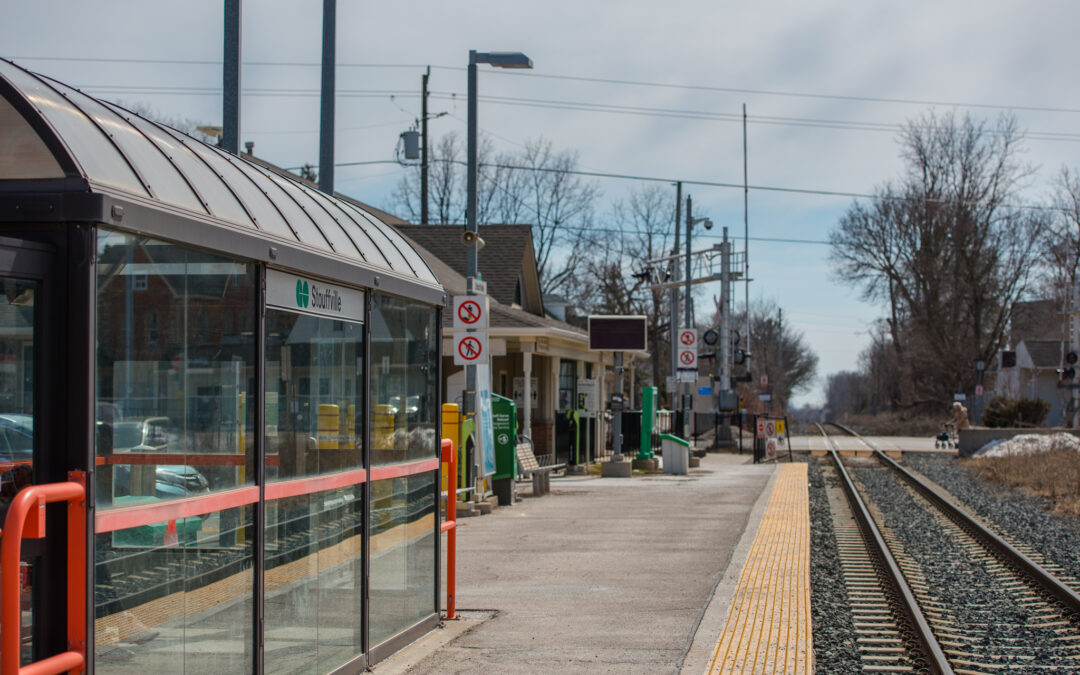
[[[411,244],[355,204],[0,59],[0,179],[54,178],[438,287]]]

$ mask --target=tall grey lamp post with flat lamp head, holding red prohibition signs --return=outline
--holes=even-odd
[[[469,50],[469,122],[467,125],[468,176],[465,177],[465,252],[467,294],[476,295],[476,253],[480,248],[476,228],[476,65],[496,68],[531,68],[532,59],[521,52],[477,52]],[[462,407],[465,415],[476,413],[476,366],[465,366],[465,391]],[[526,402],[527,403],[527,402]]]

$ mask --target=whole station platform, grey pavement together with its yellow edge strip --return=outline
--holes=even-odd
[[[551,487],[459,522],[461,618],[376,673],[812,671],[805,463]]]

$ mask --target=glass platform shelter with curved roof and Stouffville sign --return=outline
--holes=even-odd
[[[22,663],[360,672],[437,623],[446,296],[399,232],[0,62],[0,512],[86,491],[22,544]]]

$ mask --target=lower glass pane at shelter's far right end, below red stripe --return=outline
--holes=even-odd
[[[372,645],[434,613],[435,473],[372,484]]]

